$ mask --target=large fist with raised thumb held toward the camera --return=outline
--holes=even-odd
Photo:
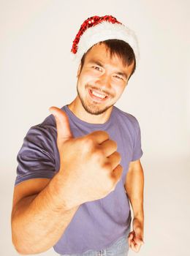
[[[49,110],[56,119],[59,173],[69,187],[73,207],[108,195],[123,171],[115,141],[104,131],[73,138],[66,113],[56,107]]]

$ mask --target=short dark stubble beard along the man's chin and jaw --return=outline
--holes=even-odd
[[[77,95],[80,99],[81,104],[83,105],[83,108],[86,110],[87,113],[91,114],[91,115],[100,115],[102,113],[104,113],[108,108],[111,108],[113,105],[107,106],[105,108],[100,109],[99,108],[99,102],[94,102],[93,104],[87,104],[83,97],[81,97],[80,91],[78,90],[78,86],[77,86]]]

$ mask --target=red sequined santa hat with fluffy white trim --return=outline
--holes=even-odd
[[[134,31],[124,26],[111,15],[102,17],[93,16],[83,22],[73,41],[71,50],[72,56],[75,56],[75,59],[80,61],[83,54],[86,53],[89,48],[107,39],[120,39],[127,42],[134,51],[137,65],[140,54],[137,37]]]

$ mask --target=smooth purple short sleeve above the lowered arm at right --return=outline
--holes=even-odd
[[[134,127],[134,146],[133,146],[133,153],[132,153],[132,161],[140,159],[142,157],[143,151],[141,148],[141,132],[140,132],[140,125],[135,118],[135,127]]]

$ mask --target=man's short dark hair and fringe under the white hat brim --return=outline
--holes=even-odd
[[[122,60],[123,66],[126,66],[126,65],[130,66],[134,62],[132,74],[134,73],[134,70],[136,69],[136,59],[134,56],[134,51],[132,50],[131,46],[127,42],[124,42],[123,40],[119,40],[119,39],[108,39],[98,43],[104,44],[107,46],[107,49],[110,51],[111,58],[113,55],[117,55]],[[93,48],[93,46],[91,48]],[[80,62],[81,64],[80,71],[83,69],[83,64],[85,62],[86,54],[88,53],[89,50],[91,50],[91,48],[89,48],[87,52],[83,54],[83,57]],[[132,74],[130,75],[130,77],[132,76]]]

